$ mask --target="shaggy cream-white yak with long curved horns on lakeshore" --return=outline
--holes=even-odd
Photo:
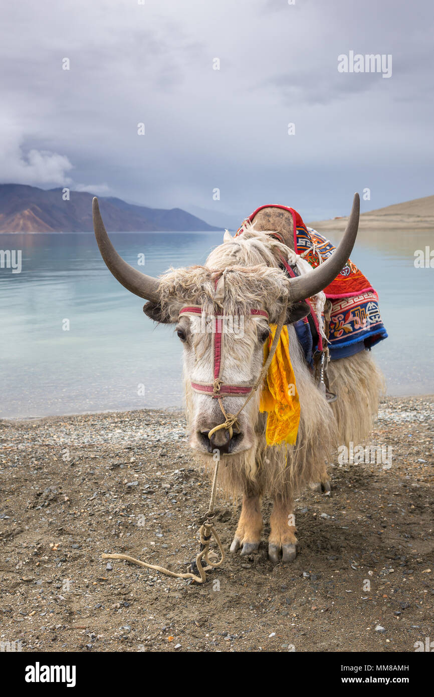
[[[281,263],[282,259],[292,265],[297,262],[291,243],[293,222],[285,220],[282,225],[283,214],[278,210],[274,214],[273,218],[272,208],[265,207],[264,215],[245,226],[242,235],[233,237],[226,231],[222,245],[203,266],[170,268],[156,279],[118,255],[104,228],[98,200],[93,199],[95,236],[107,267],[128,291],[148,301],[144,312],[150,319],[174,325],[183,345],[189,444],[195,460],[201,466],[212,464],[218,453],[224,464],[219,486],[235,500],[242,498],[231,552],[240,550],[245,556],[258,549],[263,528],[261,498],[268,495],[273,503],[268,557],[272,562],[290,562],[297,544],[295,496],[313,482],[323,482],[330,489],[327,463],[339,444],[361,443],[369,434],[383,378],[370,351],[334,360],[328,378],[338,399],[327,401],[294,329],[294,323],[309,312],[305,301],[320,300],[323,289],[349,259],[359,224],[358,194],[334,253],[318,268],[302,268],[295,277]],[[274,234],[277,227],[279,235]],[[277,324],[282,313],[288,326],[300,422],[295,443],[268,445],[268,415],[259,408],[261,390],[250,392],[261,376],[270,324]],[[217,332],[206,330],[206,316],[242,317],[242,332],[226,329],[217,337]],[[245,404],[247,396],[251,399]],[[222,428],[227,415],[241,408],[233,427]]]

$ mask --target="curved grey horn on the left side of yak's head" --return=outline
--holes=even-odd
[[[146,273],[141,273],[137,269],[130,266],[129,263],[123,261],[122,257],[116,252],[114,246],[109,240],[107,231],[102,222],[100,207],[98,206],[97,197],[93,197],[92,201],[93,229],[95,231],[96,241],[102,259],[104,259],[107,268],[114,275],[118,282],[121,283],[127,291],[134,293],[139,298],[145,298],[151,302],[157,303],[160,300],[158,295],[158,281],[152,276],[147,276]]]

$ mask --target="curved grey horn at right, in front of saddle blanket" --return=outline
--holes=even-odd
[[[354,247],[357,237],[357,229],[359,227],[360,213],[360,198],[359,194],[354,194],[352,201],[352,209],[348,219],[347,227],[343,233],[343,238],[336,247],[332,256],[324,263],[317,266],[312,273],[307,273],[304,276],[297,276],[290,282],[289,286],[289,301],[297,302],[298,300],[306,300],[325,289],[328,284],[346,265],[352,247]]]

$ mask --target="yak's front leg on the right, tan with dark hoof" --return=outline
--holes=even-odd
[[[270,537],[268,538],[268,558],[277,563],[280,551],[283,562],[295,559],[295,516],[292,498],[274,496],[274,506],[270,516]]]

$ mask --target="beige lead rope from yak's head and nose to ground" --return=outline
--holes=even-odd
[[[279,316],[279,323],[277,325],[276,333],[274,334],[274,339],[270,348],[270,353],[268,354],[268,358],[265,361],[261,373],[259,374],[259,377],[254,384],[253,388],[251,389],[251,392],[249,393],[249,396],[247,397],[245,403],[242,405],[240,409],[238,409],[236,414],[226,414],[226,411],[224,410],[223,402],[222,402],[222,397],[218,397],[219,400],[219,405],[220,408],[222,409],[222,413],[224,415],[225,421],[223,424],[219,424],[219,426],[216,426],[215,428],[211,429],[210,432],[208,433],[208,438],[211,438],[212,434],[215,433],[215,431],[218,431],[219,429],[227,429],[229,431],[229,435],[232,438],[233,434],[233,425],[237,423],[238,416],[242,412],[242,410],[245,408],[247,405],[248,401],[251,399],[251,397],[254,395],[254,392],[258,389],[258,386],[261,385],[263,378],[267,374],[268,368],[270,367],[270,363],[272,362],[272,358],[274,356],[274,353],[276,352],[277,344],[279,343],[280,339],[280,334],[281,330],[284,328],[284,323],[286,319],[286,308],[288,306],[288,300],[284,303],[284,307],[282,308],[281,314]],[[215,517],[215,496],[217,493],[217,475],[219,472],[219,464],[220,464],[220,459],[216,459],[215,461],[215,470],[214,470],[214,477],[212,478],[212,487],[211,487],[211,498],[210,498],[210,505],[208,507],[208,513],[206,514],[206,520],[203,522],[201,527],[199,528],[199,539],[201,541],[201,546],[199,549],[199,553],[196,554],[196,560],[191,565],[191,568],[196,569],[199,572],[199,576],[197,574],[194,574],[193,571],[187,572],[186,574],[176,574],[176,572],[170,571],[169,569],[164,569],[164,567],[160,567],[158,565],[154,564],[148,564],[147,562],[142,562],[139,559],[134,559],[134,557],[130,557],[129,554],[102,554],[102,559],[124,559],[127,562],[130,562],[131,564],[137,564],[138,566],[145,567],[146,569],[153,569],[154,571],[160,572],[160,574],[166,574],[166,576],[173,576],[175,579],[192,579],[193,581],[196,581],[196,583],[205,583],[206,582],[206,571],[209,570],[210,568],[212,569],[218,569],[219,567],[222,566],[224,562],[224,549],[222,546],[222,542],[220,542],[220,538],[217,535],[217,530],[215,527],[212,525],[212,519]],[[217,542],[217,546],[219,548],[221,557],[217,562],[212,562],[210,558],[208,557],[210,553],[210,542],[212,537],[214,537],[215,542]],[[203,566],[202,560],[206,561],[206,567]]]

